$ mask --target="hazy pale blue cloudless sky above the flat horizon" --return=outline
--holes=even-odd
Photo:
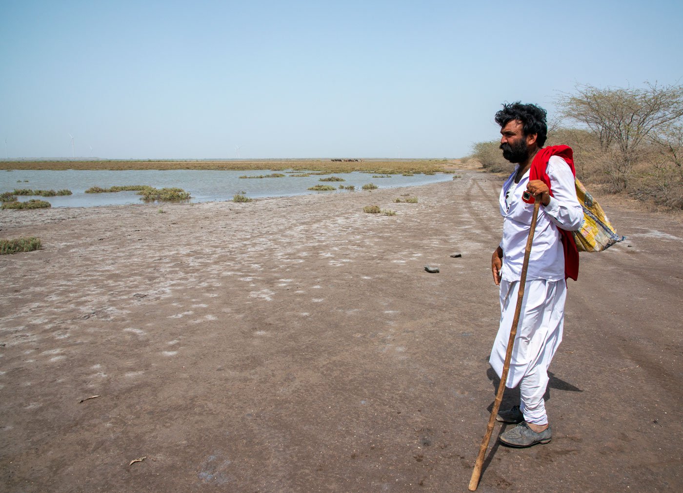
[[[682,23],[683,2],[658,0],[4,0],[0,146],[461,157],[497,138],[503,101],[553,116],[576,83],[681,83]]]

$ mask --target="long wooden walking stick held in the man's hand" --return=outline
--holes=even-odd
[[[527,192],[525,192],[526,194]],[[514,318],[512,319],[512,328],[510,328],[510,338],[507,339],[507,351],[505,351],[505,363],[503,364],[503,373],[501,374],[501,383],[498,384],[498,391],[496,392],[496,400],[493,401],[493,409],[491,416],[488,418],[488,426],[486,427],[486,434],[482,439],[482,445],[479,447],[479,455],[477,455],[477,462],[474,464],[472,477],[469,483],[469,490],[475,491],[479,485],[479,477],[482,475],[482,466],[484,466],[484,457],[486,456],[486,449],[488,449],[488,442],[491,440],[493,426],[496,423],[496,415],[501,408],[501,401],[503,400],[503,390],[505,390],[505,382],[507,382],[507,372],[510,371],[510,358],[512,358],[512,347],[514,346],[514,338],[517,335],[517,325],[519,323],[519,315],[522,311],[522,298],[524,297],[524,288],[527,284],[527,268],[529,267],[529,255],[531,255],[531,243],[533,243],[533,232],[536,228],[536,219],[538,219],[538,208],[541,204],[540,198],[535,198],[533,204],[533,215],[531,216],[531,226],[529,226],[529,237],[527,238],[527,248],[524,251],[524,263],[522,263],[522,274],[519,279],[519,291],[517,291],[517,305],[514,309]]]

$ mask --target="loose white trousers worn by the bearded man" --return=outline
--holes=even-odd
[[[518,289],[519,281],[501,280],[501,323],[489,358],[499,377],[503,373]],[[562,341],[566,297],[564,280],[533,279],[528,280],[525,287],[505,386],[519,385],[520,410],[525,421],[534,425],[548,423],[543,395],[548,386],[550,361]]]

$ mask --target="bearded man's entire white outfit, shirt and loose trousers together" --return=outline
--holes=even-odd
[[[564,252],[557,226],[578,230],[583,222],[583,209],[576,199],[574,176],[560,157],[550,157],[546,169],[553,197],[541,206],[531,246],[527,269],[527,285],[522,312],[505,386],[520,385],[520,409],[529,423],[547,423],[543,394],[548,384],[548,366],[562,341],[566,283]],[[533,204],[522,200],[529,172],[514,183],[515,172],[507,178],[500,195],[503,215],[503,268],[501,269],[501,320],[491,349],[489,362],[499,376],[507,340],[514,318],[524,251],[529,235]]]

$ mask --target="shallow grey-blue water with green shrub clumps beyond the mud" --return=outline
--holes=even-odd
[[[311,176],[285,176],[283,178],[239,178],[272,174],[272,170],[13,170],[0,172],[0,193],[16,189],[69,189],[70,196],[33,197],[19,196],[18,200],[40,198],[47,200],[53,207],[92,207],[98,205],[140,204],[140,196],[135,191],[116,193],[85,194],[85,190],[98,186],[150,185],[156,188],[179,187],[189,191],[191,202],[211,202],[232,200],[234,194],[245,192],[247,197],[281,197],[307,194],[339,194],[346,190],[311,191],[313,185],[354,185],[357,190],[365,183],[374,183],[380,188],[409,187],[451,180],[453,175],[437,173],[434,175],[416,174],[402,176],[393,174],[391,178],[372,178],[372,174],[353,172]],[[283,173],[283,172],[280,172]],[[344,182],[321,182],[320,178],[339,176]]]

